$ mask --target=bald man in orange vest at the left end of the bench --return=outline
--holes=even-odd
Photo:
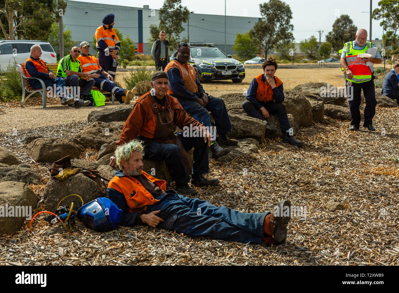
[[[56,88],[55,94],[61,99],[61,105],[66,106],[68,104],[73,104],[75,99],[67,93],[64,79],[62,77],[55,77],[55,74],[49,71],[44,61],[40,59],[40,56],[41,47],[39,45],[33,45],[30,48],[30,56],[25,61],[26,76],[41,79],[44,85],[50,87],[51,90]],[[37,79],[29,79],[29,84],[34,90],[41,88],[41,83]],[[62,87],[62,92],[58,90],[57,87]],[[45,90],[45,88],[43,89]]]

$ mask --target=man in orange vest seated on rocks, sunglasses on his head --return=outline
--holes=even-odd
[[[176,58],[165,68],[165,72],[169,75],[168,94],[177,98],[184,110],[208,129],[212,129],[209,117],[211,112],[217,132],[216,141],[211,144],[212,157],[219,158],[230,152],[230,149],[221,146],[236,146],[238,142],[227,137],[227,132],[231,131],[233,126],[224,101],[221,98],[208,96],[199,82],[194,67],[187,63],[189,59],[190,43],[178,44]]]

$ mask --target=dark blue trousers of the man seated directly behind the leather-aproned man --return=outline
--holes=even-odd
[[[182,98],[178,98],[178,100],[187,113],[190,113],[195,120],[209,127],[209,129],[211,127],[209,112],[211,112],[213,120],[215,120],[217,135],[225,134],[233,129],[225,103],[221,98],[208,96],[208,104],[205,108],[193,100]]]

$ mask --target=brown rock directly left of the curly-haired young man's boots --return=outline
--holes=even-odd
[[[233,126],[230,138],[254,138],[259,143],[265,139],[266,124],[262,120],[239,114],[229,114]]]

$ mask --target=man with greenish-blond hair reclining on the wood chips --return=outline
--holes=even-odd
[[[225,241],[284,244],[290,220],[290,201],[274,212],[244,213],[166,189],[166,182],[142,171],[143,146],[130,140],[115,151],[117,165],[108,183],[108,197],[123,212],[122,226],[148,225]]]

